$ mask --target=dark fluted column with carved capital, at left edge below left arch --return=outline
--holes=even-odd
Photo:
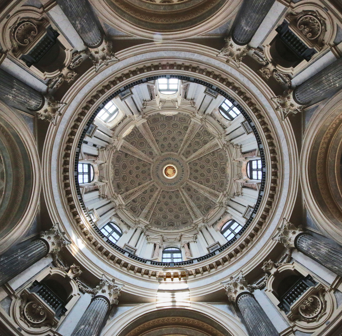
[[[42,232],[41,237],[28,243],[15,246],[0,256],[0,286],[25,271],[48,253],[57,253],[64,245],[70,244],[57,225]]]

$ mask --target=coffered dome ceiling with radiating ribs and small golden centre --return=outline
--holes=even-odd
[[[128,121],[129,128],[135,123],[128,134],[119,126],[123,139],[107,148],[111,165],[104,164],[100,175],[109,169],[107,197],[123,203],[117,215],[157,231],[192,229],[209,213],[214,218],[231,189],[229,145],[222,148],[206,125],[194,128],[186,113],[145,118]]]

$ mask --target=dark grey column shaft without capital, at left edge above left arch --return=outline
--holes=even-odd
[[[8,105],[26,111],[39,111],[44,97],[21,80],[0,69],[0,99]]]

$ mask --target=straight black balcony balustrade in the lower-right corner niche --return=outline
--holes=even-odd
[[[310,287],[316,286],[317,282],[314,281],[311,275],[299,279],[291,288],[281,297],[278,307],[286,314],[290,311],[290,307],[295,301],[302,296]]]

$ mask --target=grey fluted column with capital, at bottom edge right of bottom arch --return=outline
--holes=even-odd
[[[240,310],[251,336],[279,336],[271,320],[252,295],[252,287],[248,285],[242,272],[221,282],[221,285],[226,290],[229,301],[235,303]]]

